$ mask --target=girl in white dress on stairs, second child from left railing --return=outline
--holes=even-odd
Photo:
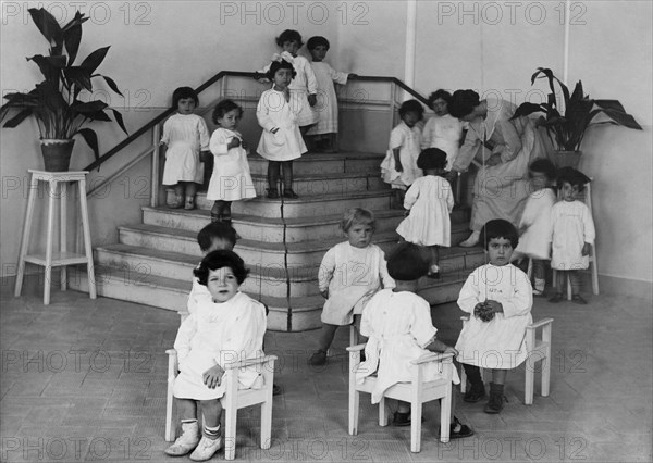
[[[214,155],[213,174],[207,191],[207,199],[215,201],[211,222],[231,225],[232,201],[256,198],[247,162],[247,143],[236,130],[242,116],[243,109],[232,100],[220,101],[213,110],[213,123],[220,127],[211,135],[209,145]]]

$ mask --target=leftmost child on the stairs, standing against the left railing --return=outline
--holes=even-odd
[[[172,93],[172,107],[177,113],[163,124],[161,145],[165,145],[163,185],[174,186],[174,201],[169,208],[195,209],[197,185],[204,183],[200,151],[209,149],[209,129],[205,120],[193,112],[199,104],[190,87],[180,87]],[[185,200],[184,200],[185,197]]]

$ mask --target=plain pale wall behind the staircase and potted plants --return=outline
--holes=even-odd
[[[59,17],[74,14],[67,2],[44,3]],[[424,96],[436,88],[475,88],[517,103],[525,98],[540,101],[546,87],[540,83],[530,86],[535,67],[551,67],[563,76],[560,4],[419,1],[415,88]],[[644,128],[641,133],[593,128],[582,146],[581,168],[595,178],[600,272],[615,280],[640,281],[650,292],[652,5],[641,1],[571,4],[569,83],[582,79],[592,97],[620,100]],[[28,90],[39,78],[36,65],[25,62],[25,57],[46,49],[26,13],[27,7],[37,5],[2,3],[3,92]],[[91,21],[84,26],[79,57],[111,45],[98,71],[123,89],[125,98],[112,95],[111,104],[123,111],[131,130],[164,109],[176,86],[197,86],[221,70],[260,68],[278,51],[274,37],[285,28],[298,29],[305,40],[311,35],[326,36],[331,41],[326,60],[337,70],[404,77],[405,2],[165,1],[131,2],[128,8],[124,2],[87,2],[82,11],[90,14]],[[102,151],[124,137],[110,124],[96,128]],[[23,189],[15,183],[22,182],[27,168],[42,165],[34,134],[30,123],[0,132],[3,276],[11,275],[15,266],[25,211]],[[91,160],[83,141],[76,145],[72,168]],[[115,167],[102,168],[108,175]],[[147,165],[131,175],[131,180],[147,175]],[[122,180],[122,185],[127,182]],[[113,191],[124,196],[118,188]],[[115,232],[111,230],[116,223],[133,223],[138,216],[140,200],[127,199],[95,201],[94,241],[113,242]],[[131,212],[125,212],[127,209]]]

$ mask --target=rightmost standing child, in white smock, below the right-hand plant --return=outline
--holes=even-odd
[[[571,167],[563,167],[557,174],[557,186],[563,197],[553,205],[551,221],[553,223],[553,247],[551,267],[557,271],[557,292],[550,302],[563,300],[563,288],[567,276],[571,284],[571,301],[587,304],[580,296],[580,270],[590,266],[590,253],[594,246],[596,232],[590,209],[578,195],[590,179]]]

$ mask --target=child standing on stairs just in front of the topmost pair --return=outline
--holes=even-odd
[[[288,85],[295,77],[293,65],[286,60],[273,61],[268,78],[274,85],[263,91],[256,109],[256,117],[263,133],[257,148],[268,162],[268,198],[279,198],[279,177],[283,171],[283,197],[298,198],[293,191],[293,160],[306,152],[306,145],[297,125],[298,113],[291,105]]]

